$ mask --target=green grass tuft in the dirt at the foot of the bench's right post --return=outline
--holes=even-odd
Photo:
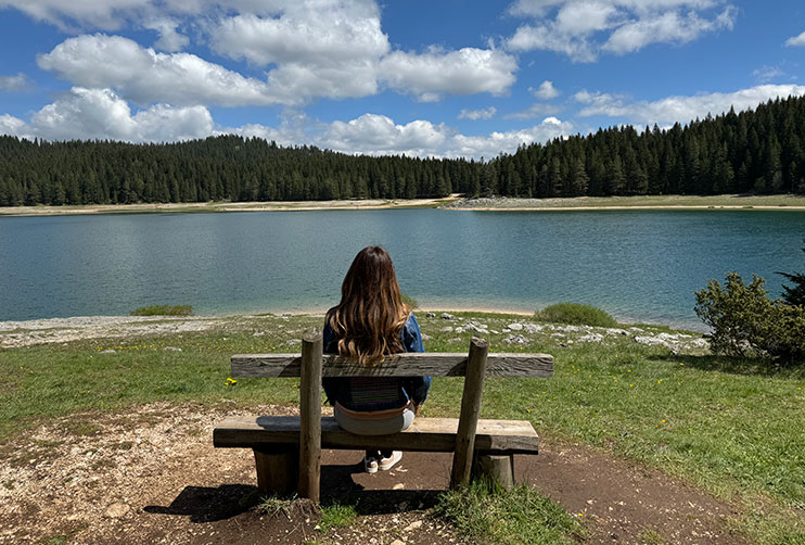
[[[444,493],[434,512],[477,543],[570,545],[586,535],[574,517],[528,486],[504,491],[474,482]]]

